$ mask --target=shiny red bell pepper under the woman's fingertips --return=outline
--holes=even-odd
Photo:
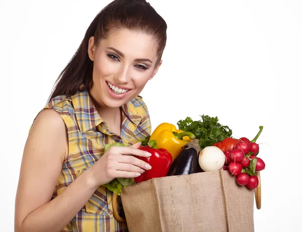
[[[140,160],[145,161],[151,165],[152,169],[146,170],[140,176],[135,177],[134,181],[136,183],[149,180],[157,177],[167,176],[169,168],[172,164],[172,155],[168,150],[164,148],[156,149],[157,143],[152,140],[148,143],[148,146],[140,146],[138,149],[147,151],[152,155],[150,157],[137,157]]]

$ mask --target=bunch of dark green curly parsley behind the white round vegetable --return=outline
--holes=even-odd
[[[177,123],[179,130],[188,131],[199,139],[201,149],[221,142],[225,138],[232,137],[232,130],[228,126],[218,123],[217,117],[201,115],[201,120],[193,121],[190,117]]]

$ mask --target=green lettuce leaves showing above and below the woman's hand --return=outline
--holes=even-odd
[[[110,147],[126,147],[124,144],[112,143],[106,144],[104,151],[107,152]],[[115,178],[107,184],[102,185],[103,187],[108,188],[110,191],[115,192],[117,195],[120,195],[123,187],[128,185],[135,184],[134,178]]]

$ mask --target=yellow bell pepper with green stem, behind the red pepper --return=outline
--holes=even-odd
[[[191,132],[184,132],[177,130],[173,124],[162,123],[160,124],[150,136],[149,141],[156,140],[157,148],[167,149],[174,161],[182,151],[182,147],[195,139],[195,135]]]

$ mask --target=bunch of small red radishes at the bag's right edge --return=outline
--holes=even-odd
[[[250,141],[243,137],[240,138],[232,150],[224,152],[225,164],[224,170],[236,176],[236,181],[240,185],[246,185],[250,189],[258,186],[259,180],[256,172],[260,172],[265,168],[264,161],[258,157],[259,145],[256,143],[257,138],[263,130],[260,126],[257,136]]]

